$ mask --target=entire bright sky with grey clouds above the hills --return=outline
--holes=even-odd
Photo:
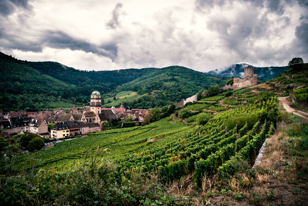
[[[81,70],[308,61],[308,1],[0,0],[0,51]]]

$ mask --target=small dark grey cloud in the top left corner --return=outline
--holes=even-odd
[[[16,10],[16,7],[30,10],[28,0],[0,0],[0,15],[6,17]]]

